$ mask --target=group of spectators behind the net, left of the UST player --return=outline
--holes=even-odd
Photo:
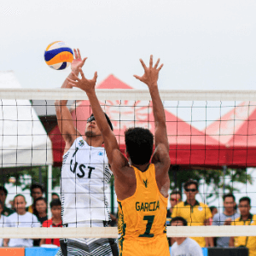
[[[0,226],[1,227],[61,227],[61,201],[59,195],[52,194],[50,211],[52,218],[47,217],[47,201],[44,198],[44,187],[39,183],[31,186],[32,205],[26,207],[24,195],[15,195],[13,209],[6,207],[7,189],[0,186]],[[0,239],[0,247],[33,247],[43,244],[60,246],[59,239]]]

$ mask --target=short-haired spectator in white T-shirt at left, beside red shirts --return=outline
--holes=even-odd
[[[33,215],[31,212],[26,212],[26,200],[24,195],[15,195],[15,209],[16,212],[9,215],[8,217],[8,227],[14,228],[23,228],[23,227],[40,227],[38,218]],[[32,239],[23,239],[23,238],[11,238],[3,239],[4,247],[32,247]]]

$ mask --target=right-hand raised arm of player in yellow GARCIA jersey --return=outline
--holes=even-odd
[[[149,67],[146,67],[143,60],[140,60],[144,74],[142,77],[134,75],[136,79],[139,79],[144,84],[148,85],[149,93],[152,98],[153,103],[153,113],[154,113],[154,145],[155,151],[153,155],[152,162],[164,164],[165,166],[170,166],[169,158],[169,143],[166,131],[166,115],[163,104],[160,99],[160,94],[158,90],[158,77],[160,69],[163,64],[158,67],[160,59],[158,59],[153,67],[153,55],[150,55]],[[165,168],[166,169],[166,168]],[[169,169],[169,168],[168,168]],[[168,171],[168,169],[166,169]]]

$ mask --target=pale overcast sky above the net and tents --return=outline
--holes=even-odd
[[[84,73],[97,71],[99,82],[113,73],[146,89],[133,74],[153,54],[165,64],[160,89],[254,90],[255,14],[254,0],[2,0],[0,71],[14,70],[22,87],[61,87],[70,70],[44,62],[47,45],[61,40],[89,58]],[[178,111],[189,121],[190,110]],[[193,125],[203,129],[205,116]],[[209,117],[218,118],[219,110]]]

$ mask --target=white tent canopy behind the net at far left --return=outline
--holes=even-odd
[[[0,72],[0,88],[21,88],[14,72]],[[52,165],[50,139],[29,99],[0,99],[0,135],[0,168]]]

